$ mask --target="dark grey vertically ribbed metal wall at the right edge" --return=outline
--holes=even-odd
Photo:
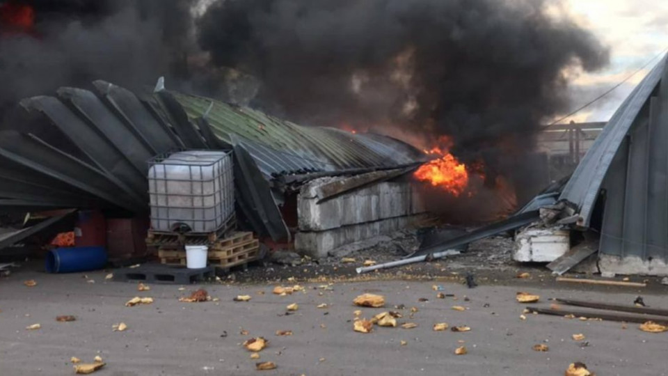
[[[657,72],[660,80],[656,79]],[[653,73],[645,79],[649,93],[636,94],[634,102],[642,107],[624,135],[601,186],[605,193],[601,252],[611,256],[668,260],[666,61]]]

